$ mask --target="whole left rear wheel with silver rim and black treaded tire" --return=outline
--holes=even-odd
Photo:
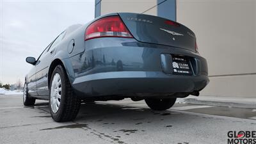
[[[77,98],[61,65],[52,72],[50,84],[49,108],[56,122],[70,121],[76,118],[81,100]]]

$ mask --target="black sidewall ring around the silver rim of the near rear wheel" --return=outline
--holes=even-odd
[[[61,100],[60,100],[60,107],[58,109],[58,111],[56,113],[54,113],[52,111],[51,108],[51,86],[52,86],[52,79],[54,77],[54,75],[58,73],[60,75],[61,78]],[[50,108],[50,112],[51,112],[51,116],[54,120],[59,121],[61,118],[61,115],[63,114],[63,109],[65,108],[65,95],[66,95],[66,90],[65,90],[65,86],[66,86],[66,76],[65,76],[65,72],[63,70],[63,68],[61,67],[61,65],[58,65],[56,68],[54,68],[53,72],[52,72],[52,76],[51,76],[51,83],[50,83],[50,87],[49,87],[49,108]]]

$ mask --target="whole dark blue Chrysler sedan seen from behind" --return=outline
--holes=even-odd
[[[145,100],[154,110],[199,95],[209,83],[193,31],[172,20],[111,13],[63,31],[25,77],[23,102],[49,100],[56,122],[76,118],[81,100]]]

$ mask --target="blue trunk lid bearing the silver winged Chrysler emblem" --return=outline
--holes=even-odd
[[[182,24],[152,15],[118,14],[132,36],[140,42],[169,45],[195,52],[195,34]]]

